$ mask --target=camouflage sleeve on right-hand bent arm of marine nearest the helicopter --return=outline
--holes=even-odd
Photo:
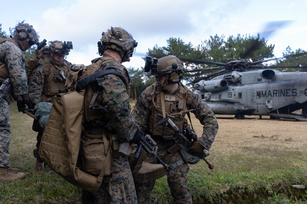
[[[192,93],[192,107],[200,108],[193,111],[195,117],[200,121],[203,127],[203,134],[198,138],[198,142],[209,150],[216,136],[219,125],[216,117],[209,106],[200,98],[199,95]]]

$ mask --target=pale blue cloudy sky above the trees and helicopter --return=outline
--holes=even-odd
[[[266,37],[268,45],[275,45],[276,57],[287,46],[307,50],[307,0],[11,0],[1,7],[2,31],[9,34],[9,28],[25,20],[40,42],[72,41],[67,60],[73,64],[89,65],[100,57],[97,42],[111,26],[126,29],[138,42],[130,62],[123,63],[134,68],[144,67],[148,49],[167,46],[170,37],[197,46],[214,35],[264,36],[272,21],[287,22],[272,27],[274,33]]]

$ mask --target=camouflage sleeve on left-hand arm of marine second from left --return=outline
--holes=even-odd
[[[29,83],[29,97],[35,104],[41,102],[41,94],[44,88],[44,65],[38,66],[33,70]]]

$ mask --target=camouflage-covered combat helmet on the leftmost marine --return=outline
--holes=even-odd
[[[22,21],[16,25],[14,32],[17,35],[18,40],[24,40],[28,38],[29,46],[38,43],[39,36],[37,35],[37,32],[34,30],[32,25],[23,23]]]

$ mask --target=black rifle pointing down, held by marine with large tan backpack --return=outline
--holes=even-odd
[[[148,139],[149,142],[146,139]],[[145,137],[142,135],[141,142],[140,142],[137,150],[135,151],[134,157],[138,158],[140,156],[141,149],[143,148],[148,154],[152,155],[153,158],[156,158],[158,163],[160,163],[167,172],[169,172],[169,173],[172,172],[172,169],[169,167],[169,165],[165,164],[158,157],[157,147],[152,147],[150,143],[152,143],[154,146],[157,145],[157,143],[150,137],[150,135],[145,135]]]

